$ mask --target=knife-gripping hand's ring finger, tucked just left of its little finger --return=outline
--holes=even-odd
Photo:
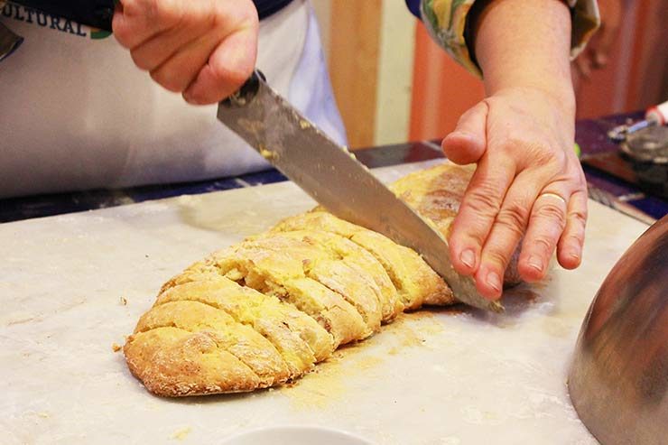
[[[170,91],[183,92],[206,66],[207,60],[219,42],[218,36],[205,33],[199,39],[187,43],[162,65],[151,71],[151,77]]]

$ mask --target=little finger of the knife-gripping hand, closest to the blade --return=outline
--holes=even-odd
[[[191,104],[213,104],[237,91],[255,67],[257,25],[233,32],[211,54],[183,97]]]

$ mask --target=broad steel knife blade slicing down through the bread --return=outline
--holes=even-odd
[[[456,273],[447,241],[404,201],[270,88],[255,71],[218,105],[218,120],[339,218],[413,248],[450,285],[459,301],[504,311],[478,294],[473,279]]]

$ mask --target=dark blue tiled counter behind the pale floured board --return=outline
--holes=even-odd
[[[617,151],[617,145],[608,140],[606,135],[608,129],[624,123],[628,118],[638,118],[640,116],[640,114],[635,113],[578,121],[576,123],[576,142],[580,144],[583,154]],[[370,147],[357,150],[355,154],[357,159],[369,168],[443,157],[439,141]],[[668,214],[667,200],[647,196],[641,190],[638,190],[636,185],[619,180],[586,165],[584,170],[590,184],[617,197],[625,198],[627,203],[641,209],[646,214],[657,219]],[[286,181],[286,178],[280,172],[268,170],[209,181],[152,185],[122,190],[83,190],[71,193],[0,199],[0,222],[41,218],[90,209],[104,209],[151,199],[253,187],[278,181]]]

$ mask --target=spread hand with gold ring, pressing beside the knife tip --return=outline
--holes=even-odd
[[[580,264],[587,186],[573,136],[572,98],[506,88],[469,109],[443,140],[451,161],[478,163],[450,231],[450,255],[483,296],[500,297],[523,236],[524,281],[543,278],[555,247],[563,267]]]

